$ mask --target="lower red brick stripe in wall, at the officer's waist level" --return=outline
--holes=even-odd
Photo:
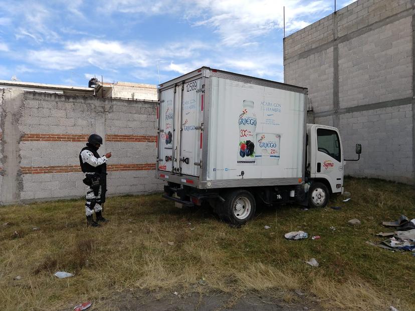
[[[79,165],[60,165],[60,166],[22,166],[22,174],[52,174],[52,173],[79,173]],[[142,164],[110,164],[107,171],[148,171],[154,170],[155,163]]]

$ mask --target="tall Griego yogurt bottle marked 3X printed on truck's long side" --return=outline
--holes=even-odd
[[[239,115],[239,164],[255,164],[255,135],[257,116],[254,113],[254,102],[244,100],[242,113]]]

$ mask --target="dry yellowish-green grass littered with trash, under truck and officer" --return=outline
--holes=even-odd
[[[415,217],[413,188],[365,179],[349,179],[346,188],[352,200],[329,205],[341,210],[259,207],[241,228],[203,209],[176,209],[159,195],[109,199],[111,222],[97,229],[86,228],[80,200],[1,207],[0,304],[56,310],[93,299],[103,309],[101,299],[125,288],[219,290],[235,301],[255,290],[293,302],[300,289],[330,310],[415,309],[415,258],[364,243],[379,240],[382,220]],[[362,224],[349,226],[351,218]],[[284,239],[299,229],[322,238]],[[304,263],[311,257],[319,267]],[[58,270],[75,276],[58,279]]]

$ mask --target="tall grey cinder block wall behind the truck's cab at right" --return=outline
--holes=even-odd
[[[308,87],[315,123],[338,127],[345,173],[415,184],[411,0],[359,0],[284,39],[284,82]]]

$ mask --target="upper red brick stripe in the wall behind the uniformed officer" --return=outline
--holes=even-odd
[[[1,139],[0,133],[0,139]],[[45,133],[25,133],[22,141],[71,141],[86,142],[89,134],[45,134]],[[108,142],[149,142],[155,143],[156,136],[151,135],[118,135],[107,134],[105,136]]]

